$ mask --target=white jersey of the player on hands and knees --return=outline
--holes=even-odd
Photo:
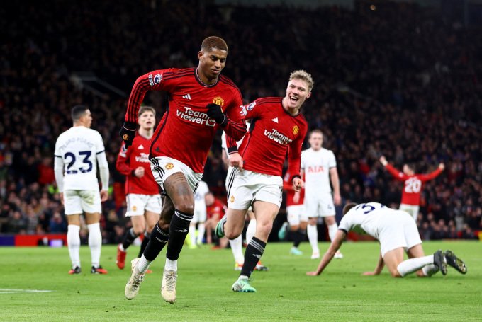
[[[359,234],[368,234],[376,239],[379,238],[381,217],[396,214],[400,210],[391,209],[378,202],[367,202],[366,204],[359,204],[347,212],[340,221],[338,229],[354,231]],[[397,215],[397,214],[396,214]]]

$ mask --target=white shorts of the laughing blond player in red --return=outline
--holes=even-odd
[[[278,207],[283,198],[283,179],[281,176],[270,176],[249,170],[232,171],[228,190],[228,207],[231,209],[248,209],[256,200],[270,202]]]

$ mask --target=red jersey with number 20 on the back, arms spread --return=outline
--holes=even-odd
[[[442,170],[437,168],[437,170],[429,174],[414,174],[413,176],[408,176],[403,172],[397,171],[390,163],[387,163],[386,169],[397,180],[405,181],[405,186],[403,187],[402,192],[402,201],[400,203],[414,206],[420,204],[420,192],[422,192],[423,183],[435,178],[442,172]]]

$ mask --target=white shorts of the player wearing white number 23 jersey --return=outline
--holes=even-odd
[[[99,190],[65,190],[65,214],[101,213],[101,194]]]

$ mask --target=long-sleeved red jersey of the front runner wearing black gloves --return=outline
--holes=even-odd
[[[203,173],[218,125],[208,117],[206,105],[216,103],[226,114],[222,129],[235,140],[246,132],[240,90],[223,75],[213,85],[205,85],[195,67],[161,69],[140,76],[130,93],[125,120],[137,122],[138,110],[147,91],[168,91],[169,109],[152,136],[150,158],[169,156]]]

